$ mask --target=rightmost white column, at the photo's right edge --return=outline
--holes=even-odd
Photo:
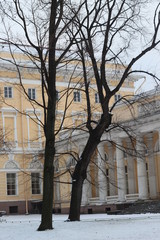
[[[148,135],[148,175],[149,175],[149,194],[151,198],[155,198],[157,196],[157,183],[152,134]]]

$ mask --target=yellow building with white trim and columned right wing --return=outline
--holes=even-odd
[[[1,52],[0,57],[11,58],[8,52]],[[19,85],[16,66],[9,61],[0,61],[0,129],[3,133],[0,143],[0,210],[9,214],[35,213],[40,212],[42,205],[44,116],[43,108],[38,104],[42,102],[41,80],[28,58],[20,53],[15,53],[15,58],[24,64],[20,75],[23,87]],[[79,65],[73,71],[76,65],[77,62],[71,62],[69,67],[61,68],[56,83],[57,140],[53,203],[56,212],[68,211],[75,159],[87,140],[87,133],[82,131],[87,116],[82,69]],[[116,86],[123,70],[120,65],[116,68],[114,64],[107,65],[110,88]],[[92,71],[89,74],[96,120],[101,108]],[[89,165],[83,187],[82,212],[106,211],[118,202],[159,197],[160,94],[159,91],[156,95],[151,91],[145,97],[135,98],[134,82],[138,78],[132,76],[126,79],[110,103],[112,106],[123,96],[128,96],[132,104],[136,100],[130,108],[124,103],[117,104],[113,112],[113,122],[116,125],[118,119],[119,128],[103,135],[104,141]],[[124,127],[128,131],[125,132]]]

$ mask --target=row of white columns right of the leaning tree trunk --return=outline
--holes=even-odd
[[[125,202],[127,196],[132,198],[136,195],[138,199],[158,196],[153,133],[147,133],[146,136],[147,148],[142,134],[137,134],[134,149],[129,139],[124,147],[124,139],[120,137],[116,139],[115,146],[105,142],[99,144],[97,151],[99,202],[107,203],[112,196],[117,197],[119,202]],[[88,189],[89,183],[86,181],[83,188],[83,204],[88,202],[91,195]]]

